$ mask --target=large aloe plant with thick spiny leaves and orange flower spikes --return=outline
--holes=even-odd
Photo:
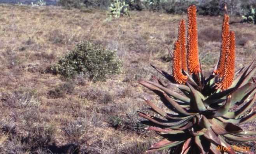
[[[252,77],[256,71],[253,66],[255,59],[235,72],[235,33],[229,31],[229,17],[225,14],[220,58],[212,74],[205,77],[198,58],[196,24],[196,7],[191,5],[188,8],[187,40],[185,22],[181,20],[174,53],[169,50],[173,57],[172,75],[152,65],[170,82],[168,85],[156,77],[153,77],[155,82],[138,81],[160,96],[171,111],[166,112],[144,99],[159,116],[138,112],[147,119],[142,123],[149,125],[147,129],[163,136],[163,140],[152,145],[147,152],[173,147],[172,152],[177,154],[235,154],[236,151],[253,154],[249,151],[251,149],[241,150],[229,143],[256,140],[255,136],[251,136],[256,135],[256,131],[239,126],[256,118],[256,107],[253,107],[256,81]],[[177,87],[180,92],[169,89],[170,86]]]

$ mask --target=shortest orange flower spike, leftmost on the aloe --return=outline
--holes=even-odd
[[[172,74],[174,76],[174,80],[179,84],[185,84],[185,82],[188,80],[188,77],[183,75],[181,72],[181,42],[179,40],[175,41],[174,44]]]

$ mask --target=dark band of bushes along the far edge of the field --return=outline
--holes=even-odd
[[[170,14],[186,13],[189,5],[196,5],[198,14],[218,16],[225,13],[223,4],[226,3],[229,15],[242,15],[248,11],[248,5],[255,4],[256,0],[121,0],[125,1],[130,10],[149,10]],[[108,9],[113,0],[60,0],[59,4],[66,8],[78,9],[93,7]]]

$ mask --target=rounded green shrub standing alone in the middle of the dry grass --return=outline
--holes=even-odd
[[[105,80],[106,75],[119,72],[122,66],[116,51],[95,46],[89,42],[81,42],[50,68],[50,72],[73,78],[80,73],[86,74],[90,80]]]

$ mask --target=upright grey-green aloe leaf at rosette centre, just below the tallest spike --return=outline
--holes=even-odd
[[[203,104],[200,92],[194,89],[189,83],[187,83],[190,91],[191,91],[191,98],[190,98],[190,108],[196,111],[205,111],[206,107]]]

